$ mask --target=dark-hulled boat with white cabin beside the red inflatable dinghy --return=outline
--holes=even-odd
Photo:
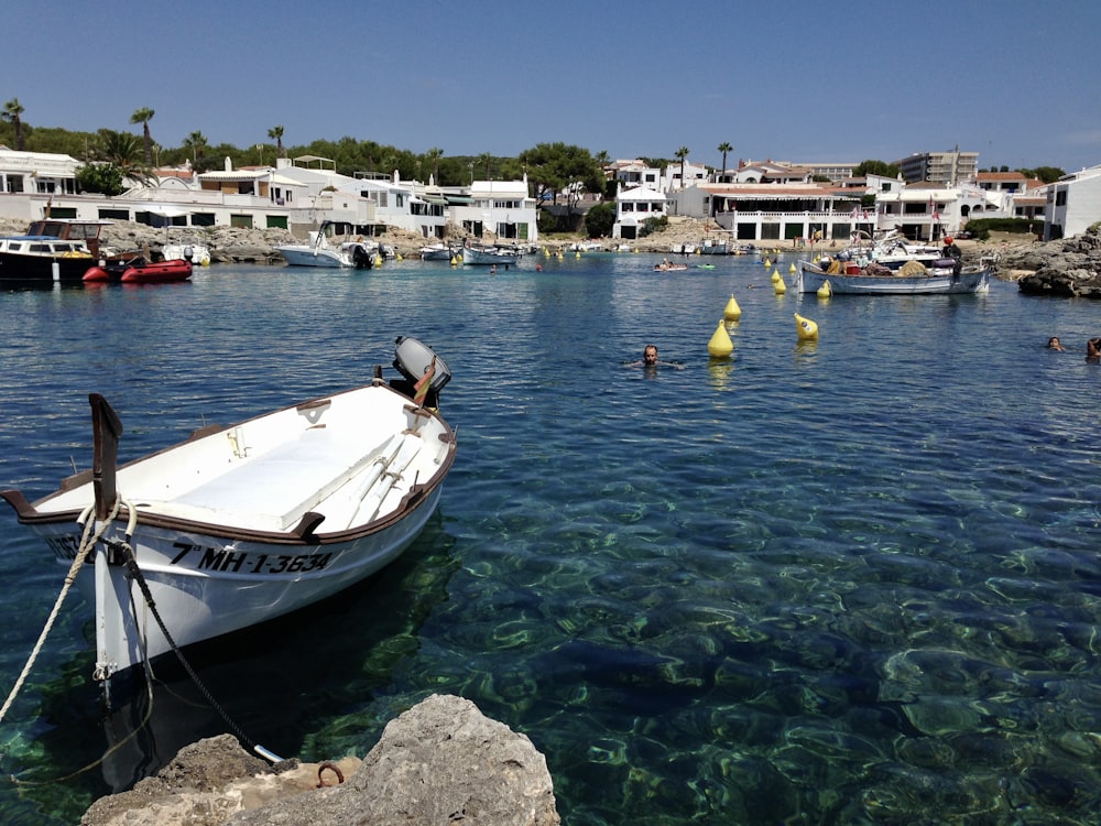
[[[98,260],[99,233],[108,220],[43,218],[25,235],[0,238],[0,281],[79,284]]]

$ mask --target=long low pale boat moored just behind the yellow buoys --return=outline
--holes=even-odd
[[[833,295],[946,295],[990,290],[988,265],[963,267],[952,258],[929,265],[913,261],[897,270],[876,263],[860,267],[831,261],[825,269],[820,264],[799,262],[796,292],[817,293],[826,282]]]

